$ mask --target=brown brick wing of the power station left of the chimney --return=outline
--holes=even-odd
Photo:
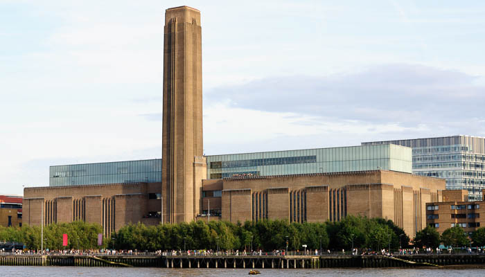
[[[25,188],[24,223],[82,220],[102,225],[107,236],[130,222],[159,224],[160,190],[161,183]]]

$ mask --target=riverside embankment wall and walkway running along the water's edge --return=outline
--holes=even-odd
[[[485,265],[485,255],[441,254],[402,256],[79,256],[8,255],[0,265],[76,266],[76,267],[165,267],[165,268],[243,268],[243,269],[318,269],[336,267],[442,267]]]

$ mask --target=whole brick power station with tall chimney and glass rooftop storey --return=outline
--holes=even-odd
[[[155,169],[144,161],[51,168],[54,186],[24,190],[26,224],[84,220],[102,224],[109,235],[130,222],[190,222],[209,220],[211,214],[230,222],[323,222],[360,214],[394,220],[409,235],[425,226],[425,203],[441,201],[445,181],[412,175],[407,147],[361,145],[206,159],[201,34],[198,10],[166,10],[161,182],[150,181],[157,179],[152,176],[159,172],[157,161],[147,162]],[[135,173],[143,168],[146,174]],[[137,181],[91,183],[112,179]]]

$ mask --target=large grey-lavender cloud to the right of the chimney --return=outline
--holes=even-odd
[[[336,122],[434,125],[475,134],[485,118],[480,113],[485,87],[475,84],[477,79],[429,66],[388,64],[351,74],[274,77],[219,87],[206,93],[206,101]]]

